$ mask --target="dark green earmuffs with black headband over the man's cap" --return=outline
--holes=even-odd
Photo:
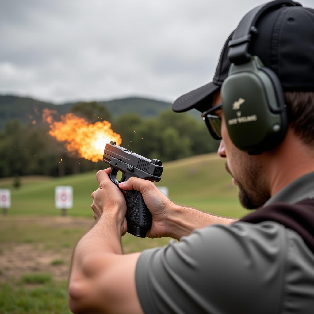
[[[240,21],[229,42],[231,66],[221,86],[223,112],[233,144],[248,154],[261,154],[276,147],[288,128],[287,106],[277,75],[248,53],[255,24],[262,14],[276,7],[300,5],[275,0],[252,9]]]

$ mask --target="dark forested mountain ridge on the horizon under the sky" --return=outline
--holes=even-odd
[[[12,119],[17,119],[23,124],[32,123],[33,121],[40,122],[44,108],[56,110],[59,114],[65,114],[70,112],[73,106],[82,102],[84,101],[55,105],[29,97],[0,95],[0,129],[3,128],[7,121]],[[112,118],[131,112],[138,113],[142,117],[153,117],[157,116],[161,111],[171,109],[171,103],[141,97],[128,97],[97,102],[100,105],[106,106]]]

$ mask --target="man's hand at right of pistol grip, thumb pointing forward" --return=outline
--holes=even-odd
[[[149,238],[167,236],[166,222],[169,209],[176,206],[163,193],[161,193],[154,183],[148,180],[132,177],[125,182],[121,182],[119,187],[123,190],[136,190],[143,195],[144,202],[152,213],[152,227],[146,233]]]

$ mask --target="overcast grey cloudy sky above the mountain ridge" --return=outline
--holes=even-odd
[[[0,0],[0,94],[172,102],[211,81],[225,39],[261,3]]]

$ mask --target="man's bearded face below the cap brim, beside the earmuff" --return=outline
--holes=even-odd
[[[213,106],[221,103],[220,92],[214,96]],[[262,206],[270,191],[266,184],[264,158],[262,155],[249,155],[238,149],[229,137],[223,110],[216,112],[221,119],[221,137],[218,154],[226,158],[226,170],[232,176],[232,181],[239,187],[239,200],[243,207],[254,209]]]

